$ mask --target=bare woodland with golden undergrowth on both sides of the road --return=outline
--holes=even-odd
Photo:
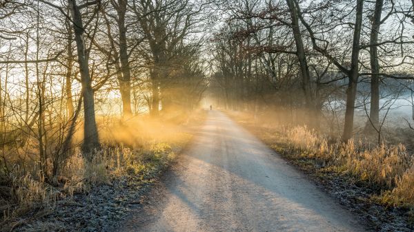
[[[413,52],[414,0],[0,0],[0,225],[157,176],[210,105],[413,220]]]

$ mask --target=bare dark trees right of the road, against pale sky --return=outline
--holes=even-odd
[[[411,89],[411,1],[242,0],[223,9],[212,86],[227,107],[255,109],[265,101],[306,109],[302,122],[318,128],[335,97],[344,101],[342,139],[349,140],[361,108],[359,83],[371,88],[366,129],[374,132],[383,123],[383,83],[397,80]]]

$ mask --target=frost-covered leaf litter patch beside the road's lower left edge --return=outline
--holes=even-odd
[[[128,180],[129,179],[129,180]],[[123,219],[152,180],[121,177],[88,194],[57,201],[54,209],[41,209],[15,222],[13,231],[109,231]]]

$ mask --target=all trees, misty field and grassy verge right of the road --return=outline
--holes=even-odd
[[[413,3],[233,0],[213,41],[213,105],[375,231],[413,231]]]

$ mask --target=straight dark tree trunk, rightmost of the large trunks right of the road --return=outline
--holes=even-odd
[[[373,25],[371,27],[370,36],[370,60],[371,60],[371,105],[369,110],[369,120],[366,128],[379,129],[380,125],[380,63],[378,63],[378,51],[375,44],[378,42],[378,34],[380,33],[381,13],[384,0],[377,0],[375,2],[375,11],[373,18]],[[371,122],[370,122],[371,120]],[[375,127],[375,128],[372,128]]]

